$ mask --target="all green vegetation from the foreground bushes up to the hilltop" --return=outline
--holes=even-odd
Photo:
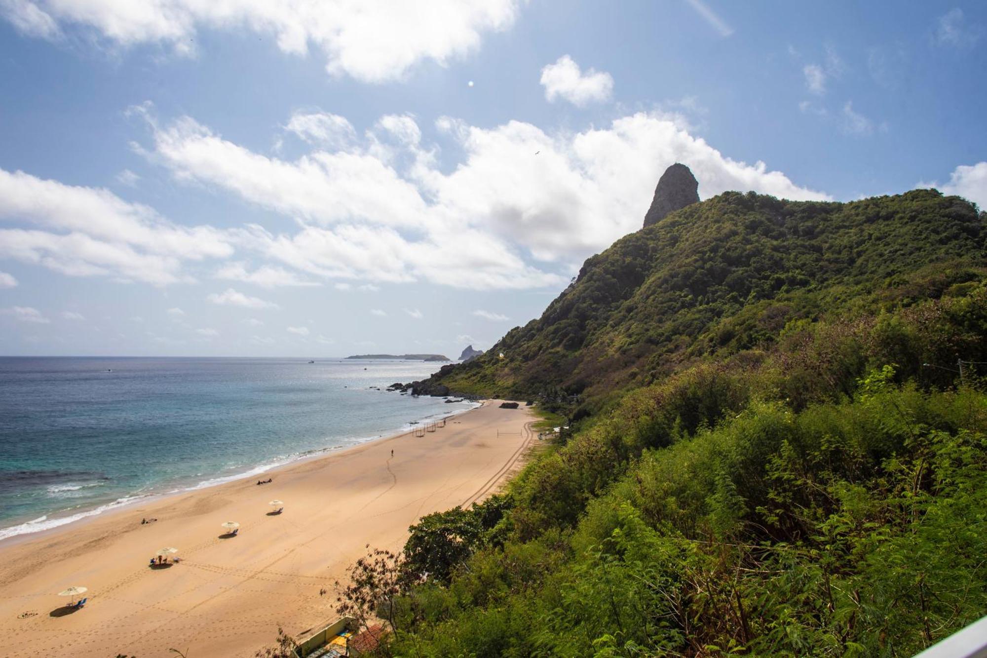
[[[381,651],[909,656],[987,614],[984,225],[726,194],[587,261],[445,369],[581,419],[363,579]]]

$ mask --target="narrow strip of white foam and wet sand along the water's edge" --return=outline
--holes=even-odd
[[[445,417],[450,417],[450,418],[451,417],[454,417],[454,416],[462,416],[464,414],[468,414],[468,413],[470,413],[472,411],[476,411],[477,409],[480,409],[481,407],[484,406],[484,404],[486,403],[486,400],[480,400],[480,401],[476,401],[476,400],[472,400],[472,401],[471,400],[464,400],[464,402],[469,402],[469,403],[474,404],[476,406],[473,406],[473,407],[471,407],[469,409],[453,410],[453,411],[450,411],[450,412],[445,413],[445,414],[431,414],[431,415],[428,415],[428,416],[422,416],[421,418],[419,418],[414,423],[406,423],[406,425],[419,424],[419,423],[421,423],[421,422],[423,422],[423,421],[425,421],[425,420],[427,420],[429,418],[433,418],[433,417],[437,417],[437,416],[445,416]],[[199,482],[197,482],[197,483],[195,483],[193,485],[187,486],[187,487],[180,487],[180,488],[177,488],[177,489],[170,489],[168,491],[152,491],[152,492],[144,493],[144,494],[141,494],[141,493],[130,493],[130,494],[126,494],[126,495],[121,496],[121,497],[119,497],[119,498],[117,498],[117,499],[115,499],[114,501],[111,501],[111,502],[100,503],[100,504],[94,505],[91,508],[78,509],[78,510],[72,511],[71,514],[69,514],[67,516],[64,516],[64,517],[51,518],[51,515],[60,514],[61,512],[64,512],[65,510],[56,511],[56,512],[48,512],[48,513],[42,514],[40,517],[38,517],[37,519],[35,519],[33,521],[25,521],[25,522],[21,522],[19,524],[14,524],[12,526],[4,526],[4,527],[0,528],[0,550],[3,550],[3,548],[6,547],[6,546],[16,545],[16,544],[23,543],[24,541],[30,540],[30,539],[32,539],[34,537],[49,536],[49,535],[52,535],[52,534],[57,533],[59,530],[63,530],[63,529],[64,530],[70,530],[72,528],[77,527],[80,524],[85,524],[87,522],[97,521],[97,520],[100,520],[100,519],[106,519],[109,516],[114,515],[114,514],[117,514],[119,512],[125,512],[128,508],[131,508],[134,505],[138,505],[138,504],[152,504],[152,503],[155,503],[155,502],[158,502],[158,501],[166,500],[166,499],[168,499],[169,497],[172,497],[172,496],[181,496],[183,494],[187,494],[187,493],[190,493],[190,492],[193,492],[193,491],[202,491],[202,490],[205,490],[205,489],[210,489],[210,488],[213,488],[213,487],[223,486],[225,484],[230,484],[230,483],[233,483],[233,482],[239,482],[239,481],[245,480],[247,478],[252,478],[255,475],[273,473],[273,472],[275,472],[275,471],[277,471],[277,470],[279,470],[281,468],[287,468],[287,467],[290,467],[290,466],[292,466],[294,464],[297,464],[297,463],[302,463],[304,461],[308,461],[308,460],[312,460],[312,459],[318,459],[318,458],[321,458],[321,457],[328,457],[328,456],[331,456],[331,455],[342,454],[344,452],[347,452],[347,451],[351,451],[351,450],[360,448],[361,446],[365,446],[367,444],[371,444],[371,443],[378,442],[378,441],[388,441],[388,440],[391,440],[391,439],[398,439],[400,437],[404,437],[404,436],[409,435],[409,434],[412,434],[414,432],[415,432],[415,429],[413,428],[413,429],[410,429],[410,430],[403,430],[402,429],[402,430],[397,431],[396,433],[381,434],[381,435],[378,435],[376,437],[369,437],[369,438],[359,438],[359,437],[357,437],[355,439],[350,439],[350,441],[353,441],[354,442],[354,443],[351,443],[351,444],[344,444],[342,446],[330,446],[330,447],[327,447],[327,448],[314,449],[314,450],[310,450],[310,451],[305,451],[305,452],[302,452],[302,453],[298,453],[295,456],[290,456],[289,455],[288,457],[286,457],[286,460],[283,460],[283,461],[276,461],[276,462],[270,463],[269,465],[259,464],[259,465],[256,465],[256,466],[253,466],[253,467],[249,468],[248,470],[243,471],[242,473],[237,473],[237,474],[232,474],[232,475],[225,475],[225,476],[210,478],[210,479],[206,479],[206,480],[201,480],[201,481],[199,481]],[[162,484],[161,486],[167,486],[167,485]],[[49,527],[46,527],[46,528],[39,528],[38,530],[28,530],[28,531],[22,532],[22,533],[16,533],[16,534],[12,534],[12,535],[3,535],[3,533],[6,532],[6,531],[9,531],[9,530],[12,530],[12,529],[15,529],[15,528],[21,528],[21,527],[26,526],[28,524],[36,523],[38,521],[40,521],[41,523],[52,523],[54,521],[62,521],[64,519],[70,519],[70,521],[64,521],[63,523],[60,523],[60,524],[57,524],[57,525],[52,525],[52,526],[49,526]]]

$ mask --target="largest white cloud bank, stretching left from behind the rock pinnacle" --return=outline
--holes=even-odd
[[[558,134],[531,123],[481,128],[441,118],[443,138],[465,152],[449,173],[430,157],[438,146],[418,143],[410,117],[385,120],[348,149],[295,161],[250,151],[189,118],[151,121],[150,157],[180,181],[227,190],[300,224],[294,233],[256,224],[231,232],[238,249],[311,277],[374,284],[564,286],[582,259],[641,226],[673,162],[692,168],[704,198],[754,190],[828,199],[761,162],[724,157],[663,113]],[[381,136],[394,140],[384,147]]]

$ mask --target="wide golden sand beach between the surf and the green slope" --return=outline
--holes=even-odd
[[[248,657],[278,624],[303,635],[337,617],[333,583],[366,544],[401,548],[422,515],[482,500],[519,467],[533,417],[498,404],[424,437],[288,464],[262,476],[270,484],[229,482],[0,541],[0,656]],[[267,514],[271,499],[283,514]],[[238,536],[219,537],[225,521]],[[181,563],[149,568],[165,546]],[[57,593],[71,585],[88,587],[89,603],[62,615]]]

